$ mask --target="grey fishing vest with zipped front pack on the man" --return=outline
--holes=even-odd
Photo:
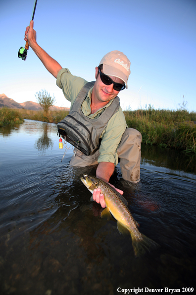
[[[100,136],[109,119],[118,111],[119,97],[116,96],[97,119],[90,119],[82,112],[81,106],[95,81],[88,82],[80,90],[69,115],[57,124],[58,133],[62,138],[85,155],[94,154],[100,146]]]

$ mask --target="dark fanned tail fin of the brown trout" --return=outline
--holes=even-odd
[[[145,253],[150,252],[150,250],[156,249],[159,246],[156,242],[148,238],[143,233],[137,234],[136,236],[132,232],[130,233],[136,257],[140,257]]]

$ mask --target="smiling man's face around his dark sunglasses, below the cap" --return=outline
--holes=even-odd
[[[96,67],[96,82],[93,88],[94,98],[97,102],[105,102],[107,104],[108,101],[116,97],[119,91],[113,89],[113,84],[105,85],[101,79],[100,74],[98,74],[98,67]],[[124,81],[120,78],[109,76],[114,82],[124,84]]]

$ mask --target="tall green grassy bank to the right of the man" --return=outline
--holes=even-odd
[[[128,127],[141,132],[144,144],[196,153],[195,112],[154,110],[149,106],[124,114]]]

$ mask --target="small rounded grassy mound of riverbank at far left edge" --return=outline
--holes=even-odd
[[[7,124],[21,124],[24,120],[18,110],[0,108],[0,127]]]

